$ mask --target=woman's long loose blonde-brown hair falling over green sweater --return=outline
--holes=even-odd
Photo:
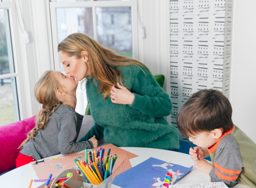
[[[97,79],[98,92],[103,94],[104,99],[110,94],[112,85],[116,85],[119,82],[118,79],[122,83],[122,74],[117,66],[136,65],[142,71],[143,67],[147,68],[143,63],[135,59],[114,53],[83,33],[70,34],[58,45],[58,52],[63,51],[70,57],[81,58],[81,51],[83,50],[88,53],[91,74]]]

